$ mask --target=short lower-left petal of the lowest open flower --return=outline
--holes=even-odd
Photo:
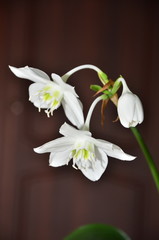
[[[60,167],[63,165],[67,165],[69,162],[69,154],[71,152],[71,148],[68,148],[62,152],[52,152],[49,158],[49,165],[51,167]]]

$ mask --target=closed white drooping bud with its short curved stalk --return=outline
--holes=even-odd
[[[117,106],[119,120],[125,128],[135,127],[144,120],[142,103],[139,97],[129,90],[122,77],[118,81],[123,85],[123,92]]]

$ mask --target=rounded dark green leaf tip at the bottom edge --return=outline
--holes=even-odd
[[[105,224],[81,226],[64,240],[130,240],[120,229]]]

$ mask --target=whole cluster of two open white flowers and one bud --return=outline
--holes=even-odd
[[[102,87],[91,86],[92,90],[96,91],[96,95],[99,93],[101,95],[93,101],[85,120],[82,103],[74,87],[67,83],[68,78],[74,72],[84,68],[95,70],[103,84]],[[62,77],[53,73],[51,74],[52,79],[43,71],[28,66],[22,68],[10,66],[10,70],[17,77],[33,81],[29,87],[29,100],[39,109],[39,112],[44,109],[47,116],[50,117],[53,116],[54,110],[62,105],[66,117],[74,125],[64,123],[59,130],[62,137],[34,148],[37,153],[50,153],[50,166],[68,165],[72,160],[72,166],[75,169],[81,170],[88,179],[97,181],[107,167],[108,156],[127,161],[135,159],[117,145],[93,138],[90,131],[90,120],[96,104],[103,101],[105,108],[109,99],[117,106],[118,117],[124,127],[135,127],[143,121],[141,101],[129,90],[123,77],[119,77],[113,82],[104,72],[93,65],[79,66]],[[117,91],[121,84],[123,91],[118,98]]]

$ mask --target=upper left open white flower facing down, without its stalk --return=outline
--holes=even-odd
[[[25,78],[34,83],[29,87],[29,100],[39,109],[46,109],[47,116],[53,115],[55,109],[61,104],[67,118],[72,124],[80,128],[84,123],[82,104],[78,100],[74,88],[65,83],[57,74],[49,76],[35,68],[16,68],[9,66],[11,71],[20,78]]]

